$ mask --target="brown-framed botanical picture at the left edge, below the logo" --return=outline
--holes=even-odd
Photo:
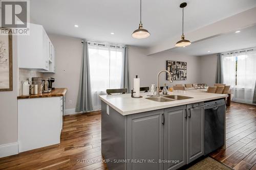
[[[9,32],[9,35],[0,34],[0,91],[12,91],[12,86],[12,34]]]

